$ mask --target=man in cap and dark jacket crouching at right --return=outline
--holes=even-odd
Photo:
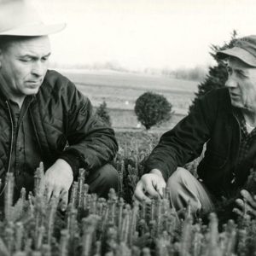
[[[137,183],[137,200],[150,201],[167,185],[177,210],[189,201],[192,212],[206,213],[214,210],[216,199],[229,198],[245,184],[256,164],[256,36],[237,39],[235,47],[219,51],[218,57],[227,63],[225,88],[201,97],[160,138],[146,163],[147,173]],[[201,155],[205,143],[196,179],[183,166]],[[241,194],[256,206],[247,191]],[[241,200],[237,203],[242,207]]]

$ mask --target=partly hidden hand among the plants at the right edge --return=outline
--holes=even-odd
[[[243,197],[243,200],[236,199],[236,205],[233,209],[233,212],[236,212],[236,214],[240,216],[244,215],[250,215],[251,217],[256,217],[256,195],[251,195],[247,190],[242,189],[241,190],[241,196]]]

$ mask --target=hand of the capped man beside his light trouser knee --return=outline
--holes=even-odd
[[[162,173],[158,169],[153,169],[138,181],[134,197],[138,201],[150,202],[150,197],[162,197],[164,188],[166,188],[166,181]]]

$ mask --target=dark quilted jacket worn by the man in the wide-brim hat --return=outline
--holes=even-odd
[[[112,160],[117,152],[113,130],[92,113],[89,99],[60,73],[46,73],[27,114],[32,119],[45,169],[61,155],[70,154],[79,160],[81,167],[89,171],[95,170]],[[11,121],[9,101],[1,90],[0,177],[9,168],[10,148],[14,137]],[[67,143],[69,147],[66,148]]]

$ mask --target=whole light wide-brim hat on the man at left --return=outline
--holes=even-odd
[[[0,36],[45,36],[65,27],[65,23],[44,24],[31,2],[0,0]]]

